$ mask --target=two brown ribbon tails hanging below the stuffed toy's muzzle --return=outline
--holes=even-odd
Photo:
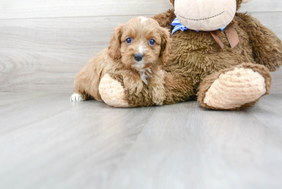
[[[231,23],[228,24],[228,26],[226,26],[226,28],[223,31],[229,41],[231,48],[234,48],[235,46],[237,46],[239,43],[239,37],[238,37],[237,31],[235,30],[233,24]],[[224,44],[218,38],[216,31],[210,31],[210,33],[212,34],[212,37],[214,38],[214,40],[216,40],[216,43],[220,46],[221,50],[223,50]]]

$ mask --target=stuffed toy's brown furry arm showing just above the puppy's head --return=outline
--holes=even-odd
[[[156,20],[161,27],[167,27],[168,29],[172,31],[173,27],[171,23],[176,18],[176,16],[174,14],[174,10],[170,9],[167,12],[157,14],[153,16],[152,18]]]

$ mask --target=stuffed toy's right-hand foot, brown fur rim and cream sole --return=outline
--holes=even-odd
[[[199,87],[198,102],[211,109],[245,109],[269,94],[271,81],[265,66],[243,63],[207,76]]]

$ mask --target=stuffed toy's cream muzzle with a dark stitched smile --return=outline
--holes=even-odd
[[[188,29],[214,31],[234,18],[236,0],[175,0],[174,13]]]

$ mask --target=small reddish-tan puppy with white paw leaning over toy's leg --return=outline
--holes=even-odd
[[[152,18],[137,17],[120,25],[111,35],[110,45],[77,74],[71,101],[87,98],[101,100],[99,83],[106,73],[122,76],[124,89],[138,94],[148,85],[153,102],[161,105],[165,98],[161,65],[169,59],[168,29]]]

